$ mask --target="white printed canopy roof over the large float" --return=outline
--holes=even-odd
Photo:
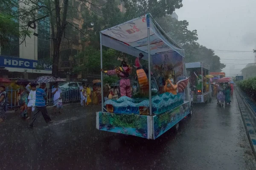
[[[148,32],[150,28],[150,54],[176,51],[184,57],[184,50],[177,45],[157,24],[151,14],[119,24],[101,31],[102,45],[124,53],[148,58]],[[144,58],[144,57],[143,57]]]

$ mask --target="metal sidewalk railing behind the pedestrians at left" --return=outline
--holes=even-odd
[[[18,88],[14,90],[11,86],[6,87],[7,92],[7,108],[19,107],[19,92],[24,88]],[[80,89],[79,88],[61,88],[62,102],[78,102],[80,101]],[[47,104],[53,105],[52,90],[47,90]]]

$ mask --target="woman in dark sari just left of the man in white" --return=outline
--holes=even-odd
[[[26,90],[26,88],[23,88],[18,95],[19,95],[20,115],[23,119],[26,119],[29,92]]]

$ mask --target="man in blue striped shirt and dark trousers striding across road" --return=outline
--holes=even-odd
[[[47,99],[47,94],[44,91],[46,87],[46,83],[41,83],[40,88],[36,89],[35,92],[35,107],[37,108],[37,112],[34,114],[33,118],[31,119],[29,123],[29,127],[34,126],[34,122],[36,117],[38,116],[39,112],[42,113],[44,120],[47,124],[51,123],[52,120],[49,117],[46,109],[46,99]]]

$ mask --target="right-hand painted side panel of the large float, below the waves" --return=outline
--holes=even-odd
[[[154,116],[154,139],[161,136],[188,115],[190,111],[189,105],[189,102],[185,102],[170,111]]]

